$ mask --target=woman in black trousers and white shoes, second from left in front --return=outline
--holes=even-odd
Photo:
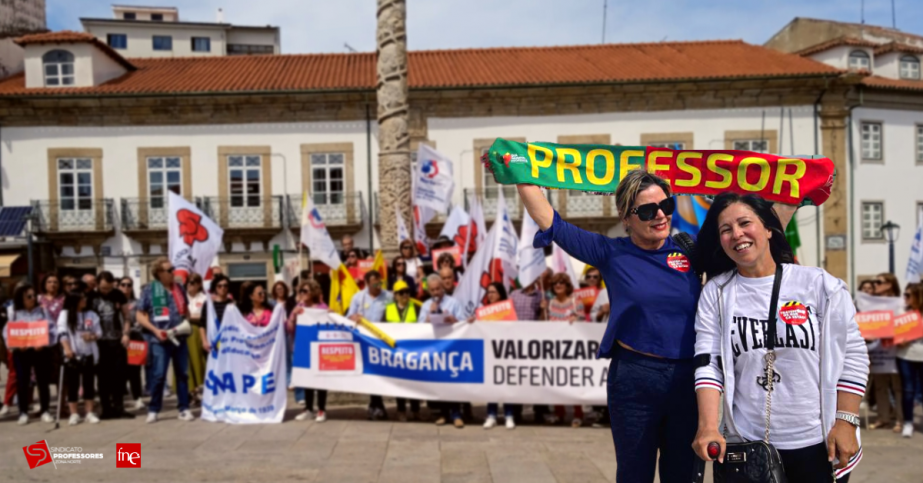
[[[99,363],[99,348],[96,341],[103,330],[96,312],[88,310],[87,295],[81,290],[67,294],[64,310],[57,321],[57,333],[64,350],[64,379],[67,380],[67,404],[70,407],[68,424],[75,426],[83,421],[77,409],[80,389],[83,389],[83,409],[86,421],[99,422],[93,413],[93,398],[96,396],[94,377]]]

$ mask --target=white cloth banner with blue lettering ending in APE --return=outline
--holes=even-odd
[[[208,300],[208,313],[215,314]],[[212,352],[205,371],[202,419],[232,424],[281,423],[285,415],[285,307],[257,327],[228,305],[218,327],[207,321]],[[217,349],[216,349],[217,348]]]

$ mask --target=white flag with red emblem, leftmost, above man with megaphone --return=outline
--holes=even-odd
[[[204,277],[218,256],[224,230],[194,204],[172,191],[168,203],[168,251],[176,275],[183,280],[191,273]]]

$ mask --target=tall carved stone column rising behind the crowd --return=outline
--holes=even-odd
[[[388,258],[397,253],[394,206],[400,207],[408,228],[413,220],[406,21],[405,0],[378,0],[378,217],[382,249]]]

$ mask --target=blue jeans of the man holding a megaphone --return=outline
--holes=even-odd
[[[148,388],[151,391],[151,402],[148,403],[148,412],[159,413],[163,408],[163,388],[167,382],[167,368],[173,361],[173,376],[176,378],[177,409],[189,409],[189,349],[186,347],[186,338],[179,339],[179,345],[169,339],[163,342],[153,337],[147,337],[148,358],[150,359],[150,380]]]

